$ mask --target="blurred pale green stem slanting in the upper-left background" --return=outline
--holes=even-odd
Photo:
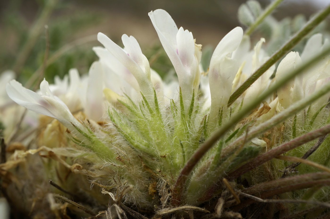
[[[56,3],[57,3],[57,0],[46,1],[46,3],[45,3],[46,5],[43,8],[40,16],[33,23],[33,26],[31,28],[28,38],[26,40],[26,43],[20,50],[20,52],[17,56],[16,62],[15,62],[15,65],[13,67],[13,70],[16,72],[17,75],[20,74],[20,71],[22,70],[24,63],[26,62],[27,58],[29,57],[29,54],[30,54],[32,48],[36,44],[43,27],[47,23],[51,12],[55,8]]]

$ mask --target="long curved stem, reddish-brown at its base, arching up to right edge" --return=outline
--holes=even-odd
[[[248,112],[253,110],[256,106],[258,106],[264,99],[266,99],[270,94],[273,94],[277,89],[279,89],[283,84],[285,84],[287,81],[293,79],[296,75],[298,75],[302,71],[308,70],[312,65],[316,64],[315,62],[321,60],[325,55],[327,55],[330,52],[330,47],[325,49],[322,53],[315,56],[310,61],[304,63],[299,68],[296,68],[296,70],[288,73],[285,77],[283,77],[281,80],[277,81],[273,86],[271,86],[267,91],[259,95],[254,101],[249,103],[243,110],[237,112],[237,114],[231,119],[223,124],[219,129],[217,129],[199,148],[195,151],[195,153],[190,157],[190,159],[187,161],[185,166],[182,168],[182,171],[180,172],[177,181],[175,183],[175,186],[173,188],[172,193],[172,205],[177,206],[181,203],[182,194],[184,191],[184,186],[186,183],[186,180],[188,179],[190,172],[193,170],[193,168],[196,166],[196,164],[200,161],[200,159],[204,156],[204,154],[215,144],[216,141],[218,141],[228,130],[230,130],[233,126],[236,125],[237,122],[239,122]],[[326,86],[327,88],[321,89],[325,94],[330,89],[330,84]],[[322,95],[323,95],[322,94]],[[314,95],[311,95],[314,97]],[[319,97],[319,96],[318,96]],[[315,98],[315,97],[314,97]],[[314,99],[316,100],[316,99]],[[300,103],[300,102],[299,102]],[[294,105],[296,106],[296,105]]]

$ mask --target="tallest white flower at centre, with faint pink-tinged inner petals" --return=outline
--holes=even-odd
[[[178,29],[172,17],[164,10],[149,12],[151,22],[179,78],[185,109],[190,105],[193,90],[198,91],[201,45],[196,45],[192,33]]]

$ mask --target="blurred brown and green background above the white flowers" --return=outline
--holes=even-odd
[[[193,33],[196,43],[202,44],[207,54],[231,29],[244,27],[239,22],[237,12],[245,2],[0,0],[0,72],[11,69],[19,81],[29,82],[30,86],[37,81],[37,77],[46,77],[52,82],[55,75],[63,77],[70,68],[77,68],[80,74],[85,74],[91,63],[97,60],[91,50],[93,46],[101,45],[96,41],[96,34],[103,32],[120,46],[122,34],[134,36],[149,58],[151,67],[164,74],[172,65],[160,45],[148,12],[158,8],[166,10],[178,27],[182,26]],[[265,8],[271,1],[258,2]],[[285,0],[273,14],[277,24],[283,27],[275,44],[281,45],[296,31],[294,25],[301,26],[329,3],[330,0]],[[294,24],[299,22],[299,25]],[[284,31],[284,26],[291,26],[291,31],[287,31],[287,28]],[[263,31],[266,42],[267,34],[269,38],[272,35],[274,38],[274,30],[264,28]],[[252,37],[259,39],[260,34],[254,33]],[[269,52],[274,48],[270,48]],[[33,75],[36,76],[33,78]]]

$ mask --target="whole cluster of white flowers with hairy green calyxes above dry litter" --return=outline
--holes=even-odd
[[[282,182],[281,173],[275,169],[288,169],[282,161],[269,160],[289,151],[272,152],[284,147],[282,142],[308,137],[310,132],[327,124],[330,118],[326,107],[330,97],[330,57],[324,55],[315,65],[285,81],[276,92],[272,89],[283,78],[299,71],[315,54],[327,51],[329,41],[323,42],[322,34],[314,34],[301,54],[289,52],[277,67],[271,65],[265,69],[261,77],[230,103],[233,92],[239,91],[244,81],[253,77],[271,59],[263,49],[265,39],[261,38],[251,49],[249,36],[244,35],[241,27],[234,28],[221,39],[212,55],[209,70],[204,73],[201,70],[202,45],[196,44],[198,40],[192,33],[183,27],[178,28],[162,9],[151,11],[149,17],[177,78],[174,77],[170,84],[165,83],[150,68],[133,36],[122,35],[124,48],[121,48],[99,33],[97,39],[104,47],[93,48],[99,60],[91,65],[86,77],[80,77],[78,71],[72,69],[69,76],[55,78],[54,84],[49,85],[44,79],[37,92],[24,88],[16,80],[4,79],[9,81],[6,91],[13,101],[61,123],[50,119],[46,127],[40,126],[43,131],[38,134],[37,146],[16,152],[12,161],[22,162],[28,154],[37,152],[44,158],[53,159],[63,166],[45,165],[45,170],[54,166],[57,171],[57,176],[53,171],[49,171],[48,176],[57,178],[61,186],[70,191],[76,190],[68,185],[69,181],[80,180],[79,184],[86,188],[89,180],[100,188],[85,191],[83,195],[88,194],[93,197],[93,202],[102,206],[107,202],[106,198],[91,195],[101,194],[97,189],[102,189],[102,193],[109,194],[112,200],[107,212],[116,212],[118,217],[122,208],[125,210],[122,203],[153,208],[156,214],[166,215],[170,213],[164,208],[180,205],[189,206],[173,212],[207,212],[197,206],[210,200],[219,200],[222,205],[226,202],[229,207],[232,202],[228,191],[239,199],[242,191],[256,194],[258,190],[253,190],[253,186],[263,188],[260,190],[264,192],[263,198],[292,191],[285,190],[283,184],[278,193],[267,193],[267,188],[274,191],[280,188],[279,183],[269,183],[269,187],[263,184],[270,179]],[[265,95],[262,104],[253,105],[262,95]],[[315,98],[317,100],[312,105]],[[5,101],[8,100],[1,99],[1,102]],[[241,112],[248,116],[236,121],[235,116]],[[227,127],[224,125],[229,129],[216,137],[217,131]],[[314,138],[320,136],[324,133],[315,134]],[[56,138],[61,145],[49,141]],[[5,136],[5,139],[9,137]],[[215,146],[204,149],[212,139],[215,139]],[[330,140],[326,138],[325,141]],[[298,146],[300,144],[296,143],[295,147]],[[303,149],[291,150],[288,155],[301,157],[310,146],[311,143],[305,144]],[[330,153],[325,146],[322,150],[327,151],[327,155],[317,158],[327,166]],[[256,165],[258,159],[264,160]],[[5,164],[6,171],[15,166]],[[63,167],[76,175],[64,177]],[[193,171],[184,172],[190,167]],[[256,169],[248,172],[249,167]],[[305,167],[299,170],[302,175],[314,174],[310,173],[314,170],[309,172]],[[251,177],[258,174],[260,176]],[[81,175],[88,180],[81,182],[84,180]],[[328,179],[330,176],[326,173],[313,177]],[[186,178],[188,180],[182,180]],[[228,183],[224,178],[236,181]],[[295,179],[292,183],[299,187]],[[309,179],[304,178],[311,182]],[[237,186],[240,183],[246,188]],[[329,185],[329,182],[322,183]],[[329,194],[329,191],[318,193],[315,199],[328,200]],[[301,190],[286,195],[303,197],[305,193]],[[53,209],[59,209],[54,204],[57,196],[47,197]],[[293,208],[291,206],[290,210]]]

